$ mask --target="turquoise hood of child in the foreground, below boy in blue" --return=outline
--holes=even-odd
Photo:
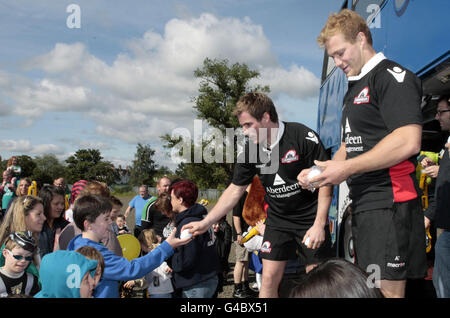
[[[77,252],[56,251],[46,254],[39,270],[42,289],[34,297],[80,298],[81,279],[87,272],[91,272],[93,276],[96,268],[97,261]],[[73,287],[70,287],[71,283],[74,284]]]

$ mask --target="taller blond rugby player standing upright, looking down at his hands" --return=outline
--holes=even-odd
[[[376,53],[366,21],[351,10],[332,14],[318,42],[348,78],[342,143],[310,182],[347,181],[356,262],[380,270],[386,297],[404,297],[408,278],[426,276],[425,229],[415,178],[422,135],[421,82]],[[309,185],[302,171],[299,182]],[[370,271],[369,271],[370,272]]]

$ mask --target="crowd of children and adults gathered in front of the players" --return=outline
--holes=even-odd
[[[17,165],[17,160],[14,163]],[[20,173],[17,167],[4,173],[4,192],[10,183],[19,184],[12,179],[16,178],[13,171]],[[65,187],[63,181],[60,184]],[[212,297],[216,291],[218,261],[200,266],[196,257],[204,250],[209,259],[218,260],[213,232],[196,240],[180,238],[181,220],[207,213],[203,205],[195,203],[198,189],[194,183],[175,185],[178,190],[172,202],[177,201],[176,206],[169,196],[162,196],[164,202],[160,200],[155,206],[176,211],[168,218],[171,226],[163,236],[151,228],[140,231],[141,253],[134,259],[123,257],[118,240],[121,235],[130,235],[121,214],[123,203],[110,195],[105,184],[79,180],[69,197],[59,185],[44,185],[36,195],[28,195],[28,188],[22,188],[11,195],[8,208],[2,210],[0,297]],[[223,239],[219,232],[216,235]],[[228,258],[229,249],[223,253]],[[203,284],[205,277],[211,282],[208,293],[195,294],[202,290],[198,284]]]

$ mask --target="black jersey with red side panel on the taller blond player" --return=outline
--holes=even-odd
[[[371,150],[397,128],[422,124],[420,79],[399,64],[375,55],[357,77],[348,78],[341,129],[347,159]],[[389,208],[417,197],[416,158],[347,179],[355,212]]]

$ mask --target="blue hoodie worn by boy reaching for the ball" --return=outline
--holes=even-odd
[[[105,271],[94,291],[95,298],[119,298],[119,282],[138,279],[158,268],[168,257],[172,256],[173,248],[164,241],[145,256],[132,261],[115,255],[105,246],[92,240],[75,236],[67,246],[68,250],[76,250],[82,246],[95,247],[102,253],[105,260]]]

